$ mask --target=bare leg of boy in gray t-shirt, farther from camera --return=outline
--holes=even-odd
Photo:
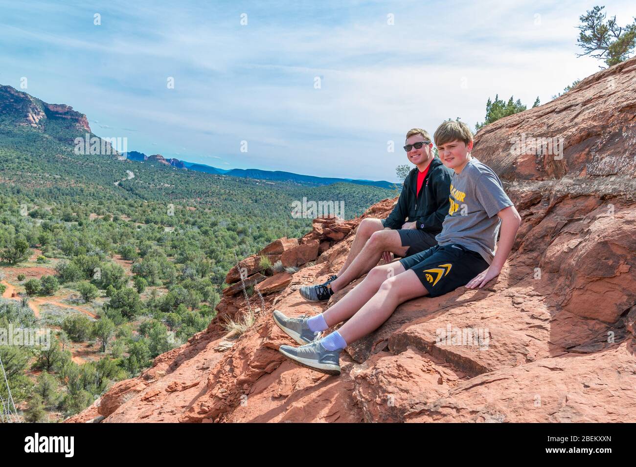
[[[364,280],[356,285],[349,294],[342,297],[334,306],[324,311],[322,317],[329,327],[348,320],[378,292],[380,286],[387,278],[403,272],[404,267],[399,261],[374,267]]]

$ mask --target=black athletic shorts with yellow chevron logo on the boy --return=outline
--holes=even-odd
[[[479,253],[459,243],[436,245],[399,262],[404,269],[412,269],[417,274],[429,297],[448,294],[488,269],[488,262]]]

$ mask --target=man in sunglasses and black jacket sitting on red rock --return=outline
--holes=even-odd
[[[422,128],[406,133],[404,151],[415,167],[404,179],[397,205],[387,219],[363,219],[340,272],[322,284],[301,287],[300,295],[308,301],[328,300],[368,273],[381,257],[389,262],[391,253],[406,257],[437,245],[435,236],[450,206],[453,171],[435,157],[431,141]]]

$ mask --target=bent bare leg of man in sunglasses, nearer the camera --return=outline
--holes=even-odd
[[[347,267],[347,270],[344,273],[341,271],[338,278],[331,283],[331,290],[338,292],[361,275],[368,273],[373,266],[378,264],[382,252],[389,251],[403,256],[408,248],[402,246],[402,241],[396,230],[382,230],[373,233],[356,259]]]

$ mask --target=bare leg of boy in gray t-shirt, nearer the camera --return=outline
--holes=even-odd
[[[409,269],[404,274],[385,280],[377,294],[342,325],[338,332],[347,344],[356,342],[380,327],[399,304],[428,293],[417,275]]]

